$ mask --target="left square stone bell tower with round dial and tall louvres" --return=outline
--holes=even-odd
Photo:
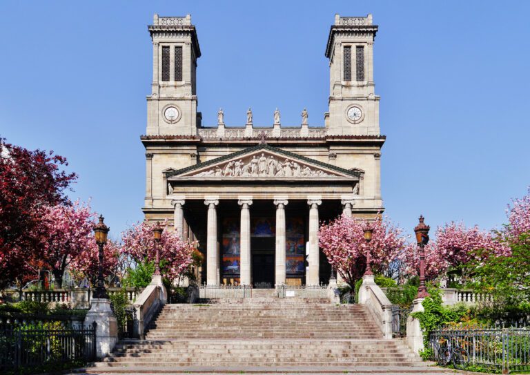
[[[147,135],[195,135],[199,40],[190,15],[159,17],[148,26],[153,40],[153,84],[147,97]]]

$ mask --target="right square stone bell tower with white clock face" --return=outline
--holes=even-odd
[[[373,81],[373,41],[377,26],[372,15],[340,17],[331,26],[329,59],[329,135],[378,135],[379,99]]]

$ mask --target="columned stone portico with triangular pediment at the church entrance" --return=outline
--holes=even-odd
[[[264,143],[166,173],[175,231],[187,233],[189,220],[206,227],[191,226],[198,238],[205,232],[203,281],[253,287],[327,282],[319,211],[351,215],[361,177]]]

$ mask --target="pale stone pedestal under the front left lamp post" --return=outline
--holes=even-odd
[[[118,341],[118,324],[110,300],[106,298],[92,298],[91,307],[85,317],[85,325],[96,322],[96,355],[105,358],[112,352]]]

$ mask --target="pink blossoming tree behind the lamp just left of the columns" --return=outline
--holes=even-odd
[[[160,262],[162,276],[175,280],[188,270],[193,262],[193,251],[196,242],[183,241],[177,233],[164,225],[166,229],[160,238]],[[137,263],[153,262],[156,248],[153,238],[153,227],[146,222],[133,225],[122,235],[123,245],[120,252],[133,258]]]

